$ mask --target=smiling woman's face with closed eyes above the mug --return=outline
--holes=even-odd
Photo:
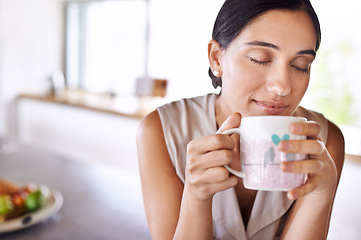
[[[292,115],[308,87],[315,45],[305,12],[272,10],[258,17],[221,54],[223,110]]]

